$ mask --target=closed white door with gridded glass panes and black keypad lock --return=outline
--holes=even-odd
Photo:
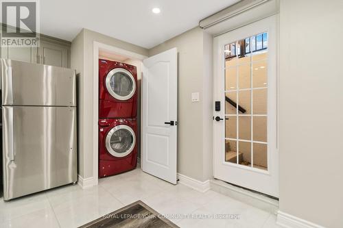
[[[213,50],[214,177],[279,197],[276,17],[217,36]]]

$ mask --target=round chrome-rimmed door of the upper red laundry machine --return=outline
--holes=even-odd
[[[124,68],[114,68],[106,76],[106,88],[112,97],[125,101],[136,92],[136,83],[132,73]]]

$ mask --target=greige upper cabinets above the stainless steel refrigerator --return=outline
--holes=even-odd
[[[71,42],[40,35],[39,47],[3,47],[1,58],[70,68]]]

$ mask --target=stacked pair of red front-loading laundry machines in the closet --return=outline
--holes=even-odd
[[[99,177],[137,166],[137,68],[99,59]]]

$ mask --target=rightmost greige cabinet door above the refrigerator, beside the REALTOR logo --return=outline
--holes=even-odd
[[[50,42],[40,42],[40,64],[68,67],[68,49]]]

